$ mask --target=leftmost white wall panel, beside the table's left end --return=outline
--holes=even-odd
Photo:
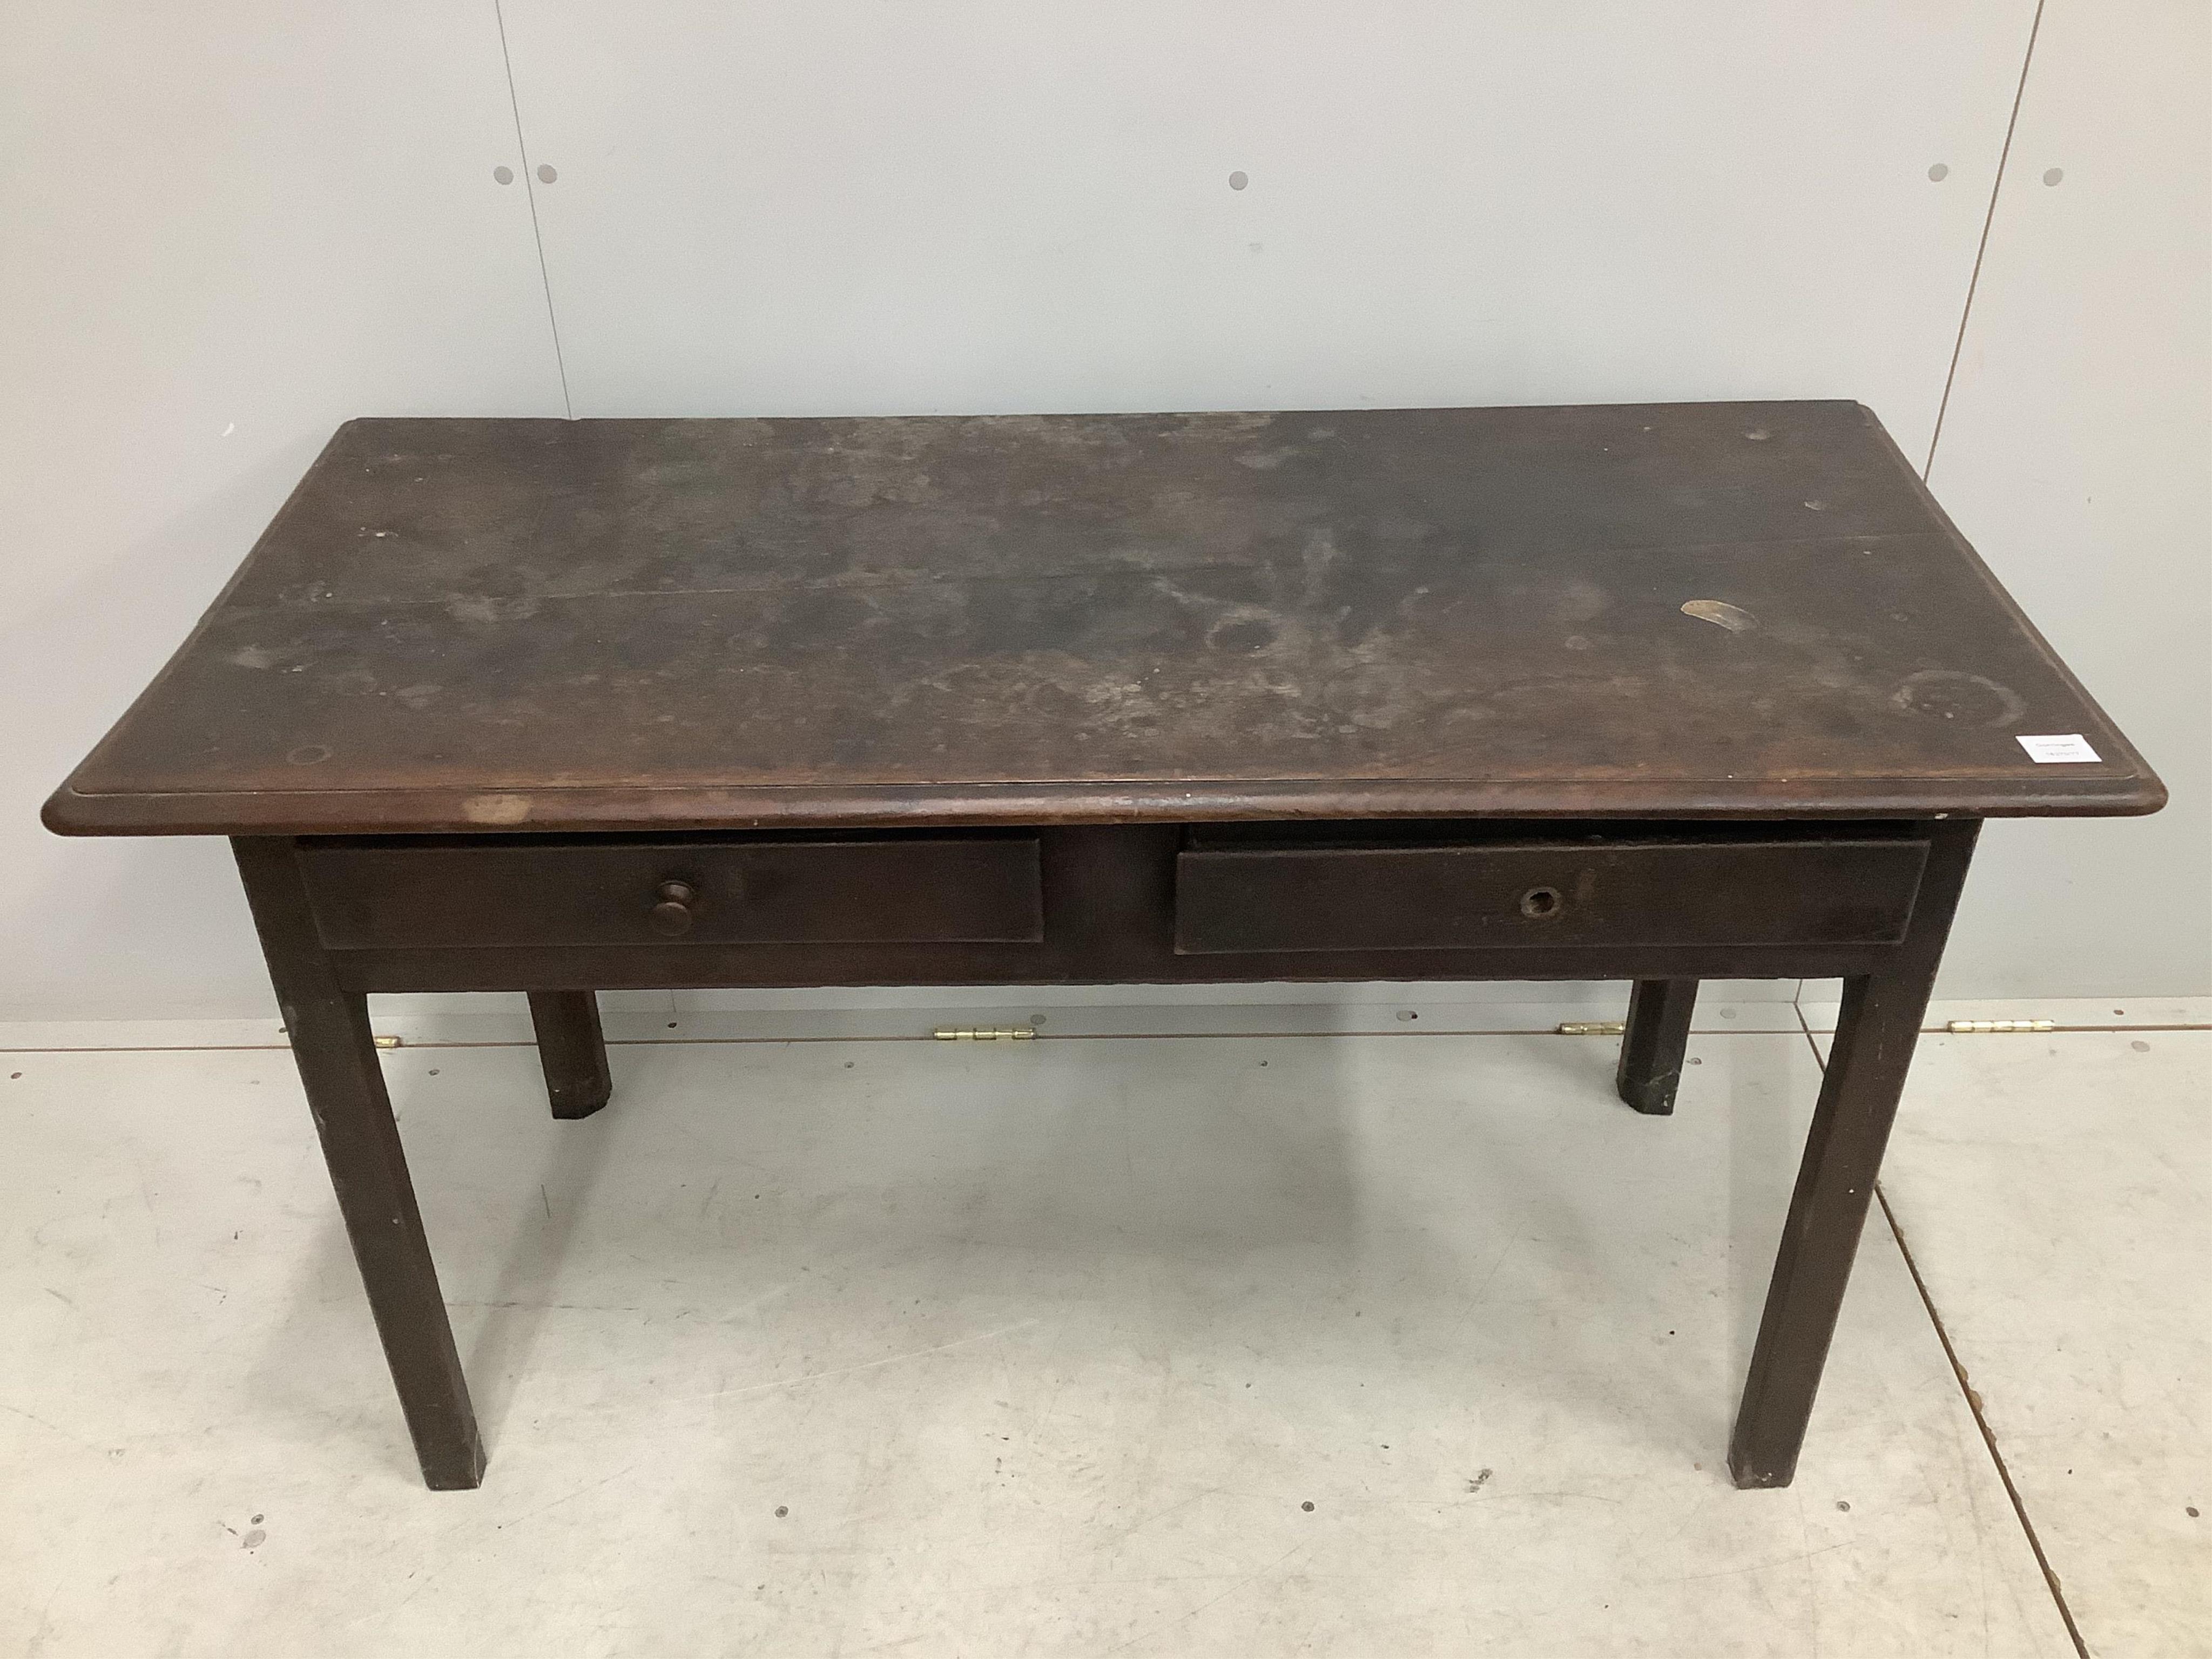
[[[0,15],[0,1011],[268,1004],[228,849],[38,805],[356,414],[562,414],[491,0]]]

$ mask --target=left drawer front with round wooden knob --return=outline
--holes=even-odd
[[[1044,938],[1035,836],[305,845],[332,949]]]

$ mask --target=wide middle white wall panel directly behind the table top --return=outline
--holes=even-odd
[[[1854,396],[1924,453],[2031,13],[509,0],[507,31],[577,414]]]

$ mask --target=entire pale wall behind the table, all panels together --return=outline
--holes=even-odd
[[[1918,456],[2031,15],[509,0],[524,157],[491,0],[18,2],[0,1015],[265,1006],[219,845],[38,801],[338,420],[564,409],[546,279],[577,414],[1856,396]],[[2174,807],[1993,825],[1953,995],[2212,991],[2205,15],[2048,2],[1933,476]]]

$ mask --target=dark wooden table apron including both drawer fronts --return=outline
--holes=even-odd
[[[964,894],[916,891],[896,843],[385,838],[303,841],[296,856],[330,960],[363,993],[1781,980],[1893,960],[1929,830],[1951,825],[916,834],[918,878],[973,883]],[[717,860],[743,891],[690,936],[653,938],[661,865],[708,872],[710,898]],[[752,902],[759,925],[741,914]]]

